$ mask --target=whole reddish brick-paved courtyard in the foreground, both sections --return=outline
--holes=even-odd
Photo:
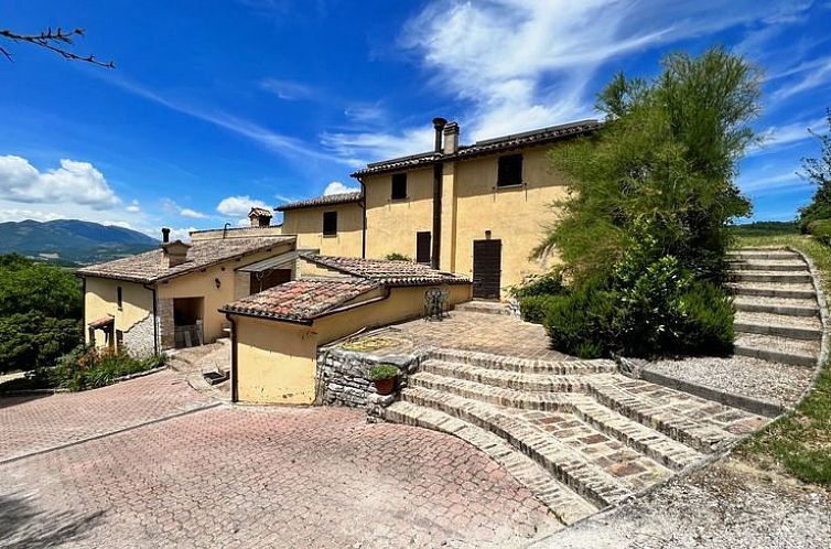
[[[206,403],[170,372],[0,399],[2,545],[516,547],[557,528],[526,488],[453,437],[367,424],[345,408],[181,415]]]

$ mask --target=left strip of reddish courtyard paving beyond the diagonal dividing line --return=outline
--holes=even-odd
[[[212,403],[173,372],[83,392],[0,398],[0,462]]]

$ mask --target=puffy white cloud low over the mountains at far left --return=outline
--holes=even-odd
[[[22,203],[83,204],[109,209],[121,203],[104,174],[89,162],[61,160],[61,168],[39,171],[26,159],[0,157],[0,198]]]

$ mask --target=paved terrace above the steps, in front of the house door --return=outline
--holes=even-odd
[[[418,319],[389,326],[384,335],[400,338],[407,343],[374,352],[400,353],[408,347],[434,345],[442,348],[457,348],[508,355],[515,358],[539,358],[544,360],[573,360],[569,356],[549,348],[546,329],[539,324],[522,322],[508,315],[452,311],[443,321]]]

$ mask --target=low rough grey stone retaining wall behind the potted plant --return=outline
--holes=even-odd
[[[367,397],[376,395],[368,375],[373,366],[398,366],[401,372],[398,388],[401,388],[407,386],[407,376],[415,372],[421,358],[421,354],[376,356],[332,346],[321,347],[317,349],[316,403],[363,408],[367,406]]]

